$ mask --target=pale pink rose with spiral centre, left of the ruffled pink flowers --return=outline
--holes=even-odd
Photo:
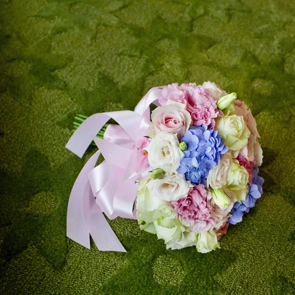
[[[172,100],[168,100],[166,106],[157,107],[151,113],[151,121],[156,133],[175,133],[179,140],[192,123],[189,112],[185,110],[185,105]]]

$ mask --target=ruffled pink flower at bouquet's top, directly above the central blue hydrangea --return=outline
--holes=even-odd
[[[180,89],[186,91],[186,109],[192,116],[194,126],[209,125],[218,116],[216,101],[207,89],[188,84],[182,84]]]

